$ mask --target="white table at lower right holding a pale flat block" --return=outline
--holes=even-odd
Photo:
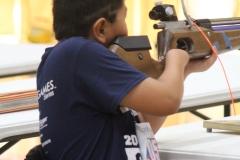
[[[240,116],[226,117],[237,119]],[[155,134],[161,160],[239,160],[240,133],[203,128],[195,122],[161,128]]]

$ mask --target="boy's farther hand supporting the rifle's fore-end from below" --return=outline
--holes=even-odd
[[[217,55],[215,53],[212,53],[210,57],[205,59],[190,60],[185,67],[184,71],[185,78],[193,72],[203,72],[208,70],[214,64],[216,59]]]

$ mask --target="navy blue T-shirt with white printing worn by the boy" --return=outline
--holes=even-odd
[[[119,103],[147,77],[82,37],[47,48],[37,71],[40,138],[47,158],[138,159],[133,116]]]

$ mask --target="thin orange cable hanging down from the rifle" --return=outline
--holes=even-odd
[[[213,53],[217,56],[220,64],[221,64],[221,67],[223,69],[223,72],[224,72],[224,75],[225,75],[225,78],[226,78],[226,81],[227,81],[227,85],[228,85],[228,89],[229,89],[229,92],[230,92],[230,96],[231,96],[231,101],[232,101],[232,106],[233,106],[233,110],[234,110],[234,114],[236,116],[236,110],[235,110],[235,106],[234,106],[234,99],[233,99],[233,94],[232,94],[232,90],[231,90],[231,87],[230,87],[230,84],[229,84],[229,81],[228,81],[228,78],[227,78],[227,74],[226,74],[226,71],[223,67],[223,64],[222,64],[222,61],[220,60],[219,56],[218,56],[218,53],[216,51],[216,48],[212,45],[212,43],[210,42],[210,40],[208,39],[208,37],[204,34],[204,32],[202,31],[202,29],[196,25],[194,22],[193,22],[193,25],[195,27],[197,27],[197,29],[202,33],[202,35],[204,36],[204,38],[207,40],[208,44],[210,45],[210,47],[212,48],[213,50]]]

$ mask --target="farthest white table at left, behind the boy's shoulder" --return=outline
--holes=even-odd
[[[0,44],[0,77],[35,72],[48,44]]]

